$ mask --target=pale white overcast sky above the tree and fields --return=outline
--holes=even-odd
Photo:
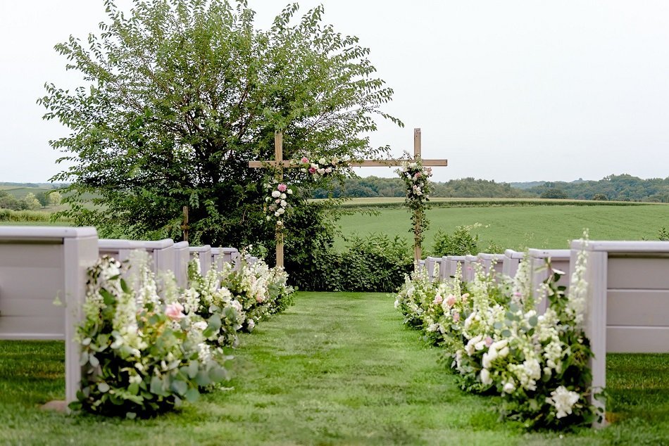
[[[129,7],[130,0],[118,0]],[[249,0],[266,28],[288,1]],[[434,179],[669,177],[669,1],[299,1],[371,49],[394,89],[375,146],[448,158]],[[46,181],[63,170],[48,141],[44,82],[77,84],[53,46],[85,39],[102,0],[0,0],[0,181]],[[364,169],[363,176],[392,176]]]

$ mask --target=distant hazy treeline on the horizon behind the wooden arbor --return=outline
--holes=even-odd
[[[641,179],[632,175],[610,175],[599,181],[534,181],[497,183],[487,179],[452,179],[433,183],[433,197],[444,198],[572,198],[576,200],[619,200],[669,203],[669,177]],[[530,187],[527,187],[530,186]],[[317,189],[313,198],[403,197],[399,178],[350,178],[333,183],[330,190]]]

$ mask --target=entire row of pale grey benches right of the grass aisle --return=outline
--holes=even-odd
[[[544,268],[548,257],[554,269],[567,273],[558,284],[569,286],[576,257],[583,248],[588,257],[584,329],[594,353],[592,388],[597,393],[606,386],[606,353],[669,353],[669,242],[589,241],[584,246],[583,241],[573,241],[570,250],[530,249],[532,288],[538,290],[549,274]],[[439,263],[439,279],[446,279],[460,263],[463,281],[469,281],[473,262],[488,269],[494,259],[498,262],[496,272],[513,276],[524,256],[506,250],[504,256],[427,257],[425,268],[434,277],[434,265]],[[538,306],[543,312],[546,299]],[[604,408],[599,400],[591,402]]]

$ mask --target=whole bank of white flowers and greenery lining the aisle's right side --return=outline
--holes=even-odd
[[[544,314],[535,310],[527,262],[513,280],[499,283],[480,265],[466,284],[459,270],[444,283],[430,283],[418,271],[406,279],[395,305],[408,324],[445,348],[463,390],[501,395],[504,414],[527,427],[589,425],[601,414],[589,404],[585,262],[580,253],[568,294],[556,286],[563,273],[551,270],[543,286],[549,300]]]

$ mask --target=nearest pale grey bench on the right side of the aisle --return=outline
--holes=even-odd
[[[572,272],[582,246],[571,243]],[[584,325],[597,391],[606,386],[607,352],[669,352],[669,241],[589,241],[585,250]]]

